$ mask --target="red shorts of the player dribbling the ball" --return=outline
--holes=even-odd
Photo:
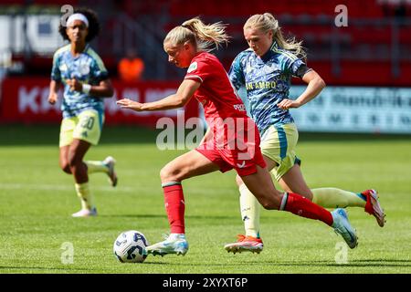
[[[238,118],[229,124],[217,123],[210,127],[213,135],[203,141],[196,151],[216,163],[220,172],[235,169],[239,176],[257,172],[257,165],[266,162],[259,148],[257,126],[250,119]]]

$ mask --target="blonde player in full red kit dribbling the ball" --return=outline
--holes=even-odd
[[[165,209],[171,234],[162,242],[147,246],[153,255],[185,255],[188,242],[184,231],[184,193],[182,181],[209,172],[235,169],[248,190],[269,210],[288,211],[302,217],[320,220],[342,235],[354,248],[357,236],[343,209],[332,213],[298,193],[280,193],[275,189],[259,148],[259,133],[248,118],[241,99],[230,83],[210,47],[227,43],[225,26],[205,25],[193,18],[174,27],[163,41],[169,62],[188,68],[177,92],[164,99],[140,103],[121,99],[121,109],[136,111],[170,110],[184,107],[195,97],[204,107],[208,130],[205,139],[193,151],[167,163],[160,172]]]

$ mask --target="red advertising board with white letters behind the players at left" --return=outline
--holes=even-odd
[[[60,102],[47,102],[49,78],[5,78],[0,99],[0,122],[47,123],[61,120]],[[133,99],[149,102],[173,94],[177,82],[140,82],[125,84],[113,81],[114,96],[105,99],[106,124],[142,124],[155,126],[158,119],[169,117],[176,120],[184,113],[184,119],[198,116],[198,103],[192,99],[184,109],[136,112],[121,110],[117,99]],[[62,90],[60,92],[61,100]],[[184,111],[183,111],[184,110]]]

